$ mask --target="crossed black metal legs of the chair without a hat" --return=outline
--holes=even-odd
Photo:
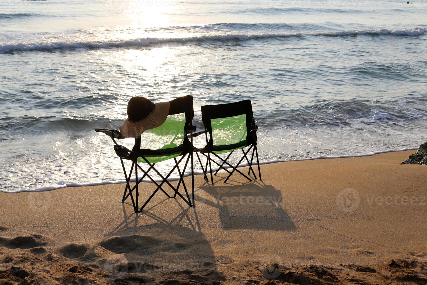
[[[251,151],[251,149],[252,149],[252,158],[251,158],[251,161],[249,162],[249,159],[248,159],[247,155],[248,155],[248,153]],[[196,153],[196,155],[197,155],[197,158],[199,159],[200,166],[202,167],[203,174],[204,174],[204,176],[205,176],[205,180],[206,180],[206,182],[209,182],[209,179],[208,179],[208,176],[207,176],[207,173],[208,173],[208,163],[209,163],[209,169],[211,170],[210,172],[211,172],[211,183],[212,183],[212,184],[213,184],[213,175],[216,175],[216,174],[218,173],[218,171],[219,171],[219,170],[221,170],[221,169],[223,169],[223,170],[225,170],[226,172],[228,172],[228,176],[227,176],[227,178],[225,178],[224,183],[228,181],[228,179],[231,177],[231,175],[234,173],[234,171],[236,171],[236,172],[240,173],[243,177],[245,177],[245,178],[246,178],[246,179],[248,179],[249,181],[252,181],[252,179],[251,179],[250,177],[246,176],[244,173],[242,173],[240,170],[238,170],[238,169],[237,169],[237,167],[240,165],[240,163],[243,161],[243,159],[246,159],[246,162],[247,162],[247,163],[248,163],[248,165],[249,165],[248,175],[249,175],[249,174],[251,173],[251,171],[252,171],[252,174],[254,175],[254,178],[255,178],[255,179],[257,179],[257,176],[255,175],[255,172],[254,172],[254,169],[252,168],[252,163],[253,163],[253,161],[254,161],[254,155],[255,155],[255,154],[256,154],[256,157],[257,157],[258,175],[259,175],[259,177],[260,177],[260,180],[262,180],[262,178],[261,178],[261,170],[260,170],[260,163],[259,163],[259,160],[258,160],[258,150],[257,150],[257,145],[256,145],[256,144],[252,144],[246,152],[245,152],[245,150],[243,150],[243,148],[242,148],[241,150],[242,150],[243,156],[242,156],[242,158],[240,159],[240,161],[239,161],[239,162],[237,162],[236,166],[233,166],[233,165],[231,165],[229,162],[227,162],[228,158],[230,158],[230,156],[231,156],[231,154],[234,152],[234,150],[232,150],[232,151],[228,154],[228,156],[227,156],[227,158],[226,158],[226,159],[222,159],[222,157],[220,157],[219,155],[217,155],[217,154],[216,154],[216,153],[214,153],[214,152],[208,152],[208,154],[206,154],[206,153],[204,153],[204,152],[200,152],[200,153],[202,153],[202,154],[207,158],[207,160],[206,160],[206,166],[205,166],[205,167],[203,167],[202,161],[201,161],[201,159],[200,159],[200,157],[199,157],[199,153],[197,152],[197,153]],[[218,162],[216,162],[214,159],[212,159],[211,154],[213,154],[216,158],[218,158],[220,161],[222,161],[222,163],[221,163],[221,164],[219,164],[219,163],[218,163]],[[218,166],[219,166],[219,168],[216,170],[216,172],[215,172],[213,175],[212,175],[212,166],[211,166],[211,162],[213,162],[213,163],[215,163],[216,165],[218,165]],[[227,168],[225,168],[225,167],[224,167],[224,164],[226,164],[226,165],[228,165],[229,167],[231,167],[231,168],[232,168],[232,170],[231,170],[231,171],[229,171]]]

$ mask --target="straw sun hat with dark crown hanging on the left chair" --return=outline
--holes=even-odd
[[[120,133],[135,138],[163,124],[168,114],[169,102],[153,103],[145,97],[132,97],[128,102],[128,118],[120,125]]]

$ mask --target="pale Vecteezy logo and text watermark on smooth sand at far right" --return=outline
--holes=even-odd
[[[368,205],[418,205],[427,206],[427,196],[400,196],[399,194],[393,195],[377,195],[377,194],[365,194],[363,196],[366,199]],[[361,196],[359,191],[354,188],[345,188],[336,194],[335,202],[336,206],[343,212],[353,212],[360,205]]]

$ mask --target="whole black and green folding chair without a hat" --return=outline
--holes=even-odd
[[[206,169],[204,169],[205,179],[208,180],[206,173],[209,168],[211,172],[211,182],[213,183],[212,167],[211,162],[219,166],[218,170],[215,172],[215,175],[220,169],[228,172],[227,178],[224,182],[230,178],[234,171],[240,173],[250,181],[251,178],[246,176],[237,167],[241,164],[243,159],[246,159],[246,162],[249,165],[248,175],[251,173],[256,179],[257,176],[254,173],[252,168],[252,163],[254,160],[254,154],[256,154],[257,165],[258,165],[258,175],[261,179],[261,170],[258,161],[258,149],[257,149],[257,129],[258,127],[255,124],[252,112],[252,103],[250,100],[244,100],[235,103],[228,104],[219,104],[219,105],[210,105],[202,106],[202,121],[205,125],[205,135],[206,135],[206,146],[202,149],[196,150],[197,157],[200,164],[202,162],[199,157],[199,153],[202,153],[206,156]],[[209,134],[209,138],[208,138]],[[249,147],[247,150],[244,150],[245,147]],[[236,166],[231,165],[227,160],[230,158],[231,154],[236,150],[242,150],[243,156]],[[252,150],[252,158],[249,161],[247,155]],[[222,159],[219,154],[229,153],[225,159]],[[221,163],[216,162],[213,158],[219,159]],[[231,167],[232,170],[229,171],[225,165]],[[203,168],[203,166],[202,166]]]

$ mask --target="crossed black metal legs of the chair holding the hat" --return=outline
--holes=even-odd
[[[149,166],[148,170],[144,170],[139,164],[137,159],[135,159],[135,161],[132,161],[132,166],[131,166],[131,170],[129,171],[129,175],[126,173],[126,168],[125,165],[123,163],[123,159],[120,158],[120,162],[122,164],[123,167],[123,172],[125,174],[125,178],[126,178],[126,187],[125,187],[125,191],[123,193],[123,198],[121,201],[121,203],[124,203],[126,201],[126,199],[130,196],[131,200],[132,200],[132,205],[134,207],[135,212],[141,212],[144,207],[147,205],[147,203],[152,199],[152,197],[154,197],[154,195],[157,193],[157,191],[160,189],[168,198],[170,198],[170,195],[164,191],[164,189],[162,188],[162,185],[164,183],[166,183],[167,185],[169,185],[170,188],[173,189],[173,191],[175,192],[173,194],[173,197],[175,198],[176,195],[178,195],[179,197],[181,197],[182,200],[184,200],[185,203],[188,204],[188,206],[194,206],[194,179],[192,177],[192,196],[193,196],[193,203],[191,203],[191,199],[190,199],[190,195],[188,194],[187,191],[187,187],[185,186],[184,183],[184,177],[183,174],[185,173],[185,169],[187,168],[188,165],[188,161],[191,158],[191,173],[193,174],[193,153],[188,153],[187,154],[187,160],[185,162],[184,168],[181,172],[181,169],[179,168],[179,163],[181,163],[181,161],[184,159],[185,155],[181,156],[181,158],[179,159],[179,161],[176,160],[176,158],[174,158],[175,160],[175,166],[172,168],[172,170],[170,170],[170,172],[167,174],[167,176],[163,176],[156,168],[155,168],[155,163],[150,163],[144,156],[140,156],[145,162],[146,164]],[[135,168],[135,186],[131,188],[130,186],[130,179],[132,177],[132,171]],[[173,171],[175,170],[175,168],[178,170],[178,174],[179,174],[179,181],[178,181],[178,186],[175,188],[167,179],[169,178],[169,176],[173,173]],[[140,169],[143,172],[143,176],[140,177],[138,179],[138,169]],[[154,170],[155,173],[160,176],[160,178],[162,179],[162,182],[159,184],[158,182],[156,182],[150,175],[149,172],[151,170]],[[139,196],[139,192],[138,192],[138,185],[140,184],[140,182],[142,182],[142,180],[145,177],[148,177],[155,185],[156,185],[156,189],[155,191],[151,194],[151,196],[146,200],[146,202],[143,204],[143,206],[141,208],[139,208],[139,201],[138,201],[138,196]],[[193,175],[192,175],[193,176]],[[187,196],[187,199],[184,198],[181,193],[178,192],[179,187],[183,186],[185,194]],[[134,195],[132,194],[135,191],[135,198]]]

